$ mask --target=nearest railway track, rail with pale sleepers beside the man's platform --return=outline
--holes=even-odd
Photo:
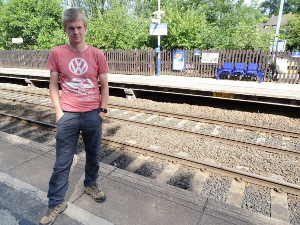
[[[29,120],[26,118],[21,118],[13,115],[1,114],[2,120],[0,121],[0,129],[3,127],[9,127],[9,122],[3,120],[4,118],[9,119],[10,121],[15,121],[22,124],[29,124],[34,127],[43,128],[46,131],[40,131],[40,134],[43,135],[53,135],[51,132],[55,132],[56,126],[52,124],[47,124],[39,121]],[[17,126],[16,126],[17,127]],[[8,129],[12,130],[14,128]],[[8,131],[7,130],[7,131]],[[30,128],[27,128],[27,131],[30,131]],[[24,134],[24,133],[23,133]],[[34,138],[33,138],[34,137]],[[27,137],[30,140],[35,140],[36,135]],[[45,141],[44,143],[47,143]],[[203,160],[198,160],[192,157],[187,156],[186,154],[179,152],[178,154],[172,154],[167,151],[155,149],[153,147],[139,146],[134,143],[118,141],[112,138],[103,137],[102,138],[102,149],[103,146],[110,146],[114,150],[104,152],[104,155],[101,156],[101,162],[112,164],[116,158],[122,157],[126,151],[132,151],[136,153],[136,157],[129,164],[127,164],[124,169],[135,173],[139,168],[151,161],[150,158],[154,157],[155,160],[165,160],[165,166],[163,170],[157,172],[159,173],[155,180],[159,182],[168,183],[172,176],[179,170],[181,166],[188,166],[194,168],[195,173],[193,179],[187,184],[187,189],[192,192],[201,194],[205,185],[207,185],[208,177],[211,175],[223,176],[229,178],[230,188],[227,190],[227,196],[225,202],[237,207],[241,207],[241,204],[244,199],[244,191],[247,185],[252,184],[263,186],[270,189],[272,193],[272,201],[277,202],[278,199],[282,201],[281,193],[288,193],[292,195],[300,195],[300,186],[291,184],[288,182],[279,181],[272,178],[267,178],[264,176],[259,176],[256,174],[235,170],[233,168],[221,166],[215,163],[210,163]],[[103,153],[102,153],[103,154]],[[76,162],[84,165],[85,156],[84,151],[79,152],[76,156]],[[162,163],[163,164],[163,163]],[[284,198],[283,198],[284,199]],[[274,203],[275,204],[275,203]]]

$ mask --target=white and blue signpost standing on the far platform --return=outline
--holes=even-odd
[[[157,19],[152,18],[151,22],[155,24],[150,24],[150,35],[157,35],[157,45],[155,52],[157,53],[157,76],[160,76],[161,69],[161,59],[160,59],[160,35],[167,35],[167,24],[160,23],[161,14],[164,14],[164,11],[160,11],[160,0],[158,0],[158,11],[155,11],[153,15],[157,16]]]

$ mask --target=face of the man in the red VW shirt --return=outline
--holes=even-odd
[[[84,43],[86,28],[81,20],[67,23],[65,30],[71,44]]]

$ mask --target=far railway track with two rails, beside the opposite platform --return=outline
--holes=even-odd
[[[33,98],[29,98],[29,96],[33,96]],[[33,104],[37,106],[42,107],[49,107],[52,108],[51,101],[49,99],[49,95],[43,95],[43,94],[36,94],[36,93],[27,93],[27,92],[21,92],[21,91],[11,91],[8,89],[0,89],[0,97],[4,98],[6,100],[11,101],[19,101],[26,104]],[[39,99],[36,99],[38,97]],[[40,99],[42,98],[42,100]],[[40,103],[40,101],[44,103]],[[273,152],[273,153],[279,153],[279,154],[287,154],[290,156],[300,157],[300,133],[295,131],[287,131],[287,130],[280,130],[275,128],[267,128],[262,126],[255,126],[255,125],[249,125],[249,124],[242,124],[242,123],[234,123],[229,121],[222,121],[222,120],[216,120],[216,119],[209,119],[209,118],[202,118],[202,117],[195,117],[195,116],[189,116],[189,115],[180,115],[180,114],[173,114],[173,113],[167,113],[164,111],[156,111],[151,109],[144,109],[144,108],[137,108],[137,107],[129,107],[124,105],[116,105],[116,104],[109,104],[109,111],[112,113],[107,114],[106,118],[113,121],[133,124],[141,127],[146,128],[152,128],[152,129],[159,129],[161,131],[166,132],[173,132],[178,134],[185,134],[185,135],[193,135],[200,138],[205,139],[211,139],[215,141],[225,142],[225,143],[231,143],[240,145],[243,147],[249,147],[249,148],[256,148],[263,151]],[[120,111],[121,110],[121,111]],[[115,113],[118,111],[117,113]],[[130,112],[134,112],[134,114],[130,117],[128,115]],[[111,116],[116,115],[116,116]],[[145,116],[147,115],[147,116]],[[143,121],[140,120],[140,117],[144,116]],[[181,121],[178,123],[172,125],[172,126],[166,126],[163,125],[163,123],[157,124],[157,123],[151,123],[151,119],[154,119],[155,117],[160,116],[163,117],[161,119],[162,122],[166,121],[169,122],[172,118],[177,118]],[[194,126],[191,128],[186,128],[185,125],[188,123],[194,123]],[[210,126],[216,126],[213,130],[208,129],[210,133],[205,133],[201,131],[197,131],[198,127],[205,127],[204,124],[209,124]],[[204,125],[203,125],[204,124]],[[231,127],[231,128],[237,128],[242,129],[244,131],[247,129],[250,132],[264,132],[268,133],[270,135],[279,135],[276,138],[280,138],[282,136],[285,139],[294,139],[295,142],[291,142],[291,145],[294,145],[294,149],[287,148],[286,146],[279,147],[279,146],[272,146],[269,144],[263,144],[261,143],[261,140],[264,141],[263,138],[258,138],[257,143],[253,141],[243,140],[238,138],[232,138],[230,137],[230,134],[225,136],[222,136],[219,134],[219,129],[223,129],[223,127]],[[201,130],[201,129],[199,129]],[[224,130],[224,129],[223,129]],[[248,134],[248,136],[255,136],[256,134]]]

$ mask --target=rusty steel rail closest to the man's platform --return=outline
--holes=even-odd
[[[0,115],[6,116],[6,117],[11,117],[17,121],[27,121],[27,123],[37,124],[38,126],[50,128],[53,130],[56,129],[56,125],[52,125],[52,124],[43,123],[40,121],[35,121],[35,120],[27,119],[27,118],[17,117],[17,116],[5,114],[5,113],[0,113]],[[176,161],[177,163],[180,163],[183,165],[188,165],[188,166],[195,167],[195,168],[199,168],[202,170],[206,169],[209,172],[225,175],[225,176],[228,176],[231,178],[242,178],[246,182],[262,185],[264,187],[277,188],[277,189],[281,188],[286,193],[300,195],[300,186],[299,185],[271,179],[271,178],[256,175],[256,174],[251,174],[251,173],[244,172],[244,171],[239,171],[239,170],[236,170],[236,169],[233,169],[230,167],[206,162],[206,161],[195,159],[195,158],[192,158],[189,156],[182,156],[182,155],[173,154],[173,153],[170,153],[167,151],[157,150],[157,149],[153,149],[153,148],[130,144],[130,143],[124,142],[124,141],[114,140],[114,139],[111,139],[108,137],[102,137],[101,139],[102,139],[102,144],[108,144],[108,145],[111,145],[114,147],[124,147],[127,150],[135,151],[138,153],[142,153],[142,154],[147,153],[151,156],[155,156],[155,157],[158,157],[161,159],[166,159],[169,161]]]

